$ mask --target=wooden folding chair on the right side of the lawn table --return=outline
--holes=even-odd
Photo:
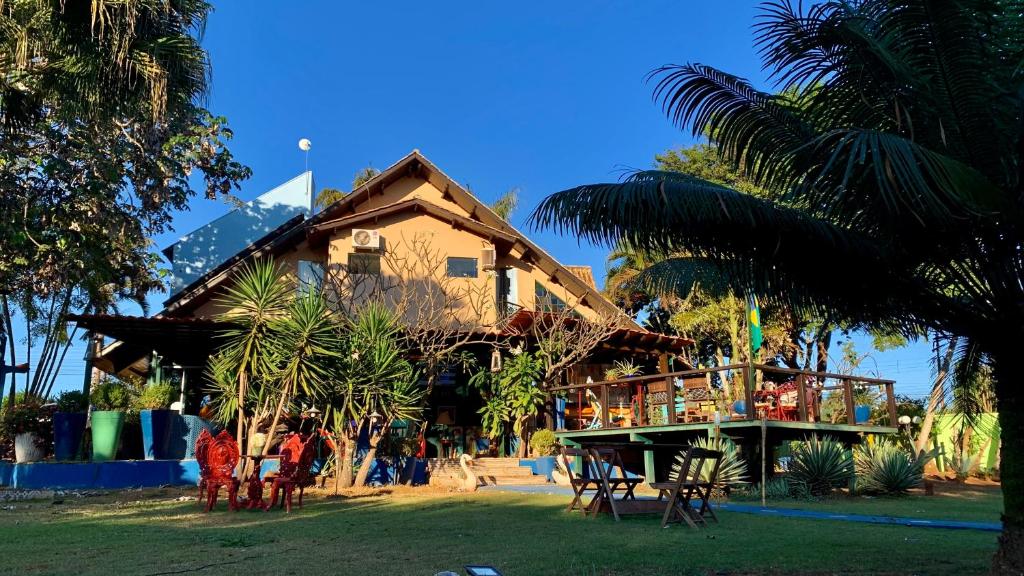
[[[698,525],[708,524],[707,517],[718,522],[718,517],[711,507],[711,496],[721,464],[721,452],[692,447],[686,450],[679,476],[674,482],[650,483],[650,487],[658,491],[659,501],[663,497],[668,498],[662,516],[662,528],[667,527],[670,522],[685,522],[690,528],[697,528]],[[703,475],[706,468],[711,472]],[[697,508],[692,504],[694,498],[700,500]]]

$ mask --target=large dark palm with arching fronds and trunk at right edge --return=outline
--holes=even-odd
[[[765,3],[783,95],[714,68],[653,73],[669,118],[710,134],[770,197],[642,171],[545,199],[535,224],[686,251],[640,283],[722,275],[743,294],[850,323],[958,334],[990,364],[1002,431],[996,573],[1024,571],[1024,27],[1001,0]]]

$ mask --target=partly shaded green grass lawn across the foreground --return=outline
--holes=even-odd
[[[429,488],[313,496],[291,515],[228,513],[223,503],[204,515],[195,502],[175,501],[179,494],[14,503],[0,509],[0,571],[429,576],[485,563],[506,576],[982,574],[996,539],[993,533],[736,512],[721,512],[721,524],[706,530],[662,530],[650,516],[616,524],[566,513],[563,496]],[[948,509],[951,497],[923,498],[899,505]],[[992,500],[985,502],[978,513]]]

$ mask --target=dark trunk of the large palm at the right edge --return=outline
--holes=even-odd
[[[1019,338],[1011,338],[1013,343]],[[1017,353],[991,355],[999,409],[999,477],[1002,482],[1002,533],[992,560],[992,573],[1024,574],[1024,389],[1014,381]]]

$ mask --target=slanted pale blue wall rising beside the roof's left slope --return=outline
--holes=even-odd
[[[246,246],[312,206],[312,172],[303,172],[212,222],[181,237],[165,251],[171,259],[171,294],[188,286]]]

